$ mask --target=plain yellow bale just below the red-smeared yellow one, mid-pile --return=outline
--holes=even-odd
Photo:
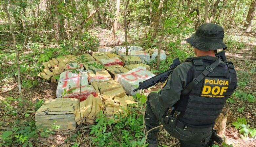
[[[122,86],[113,79],[109,79],[107,81],[93,81],[91,84],[95,88],[98,95],[110,90],[122,88]]]

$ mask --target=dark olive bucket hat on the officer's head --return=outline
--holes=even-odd
[[[202,24],[190,38],[185,39],[193,47],[210,51],[217,49],[226,49],[227,46],[223,42],[224,29],[218,24]]]

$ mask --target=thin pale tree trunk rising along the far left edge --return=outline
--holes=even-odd
[[[12,36],[12,40],[13,40],[13,48],[14,48],[15,54],[16,54],[17,71],[18,71],[18,89],[19,89],[19,94],[20,94],[20,98],[21,98],[21,103],[23,104],[25,110],[27,110],[27,106],[25,105],[25,101],[24,101],[23,93],[22,93],[22,89],[21,89],[21,72],[20,72],[20,59],[19,59],[20,53],[16,48],[16,37],[15,37],[14,31],[11,26],[12,25],[11,18],[10,18],[10,14],[9,14],[8,7],[7,7],[7,2],[8,1],[3,2],[2,6],[3,6],[4,11],[6,12],[7,19],[8,19],[9,25],[10,25],[10,31],[11,31],[11,36]]]

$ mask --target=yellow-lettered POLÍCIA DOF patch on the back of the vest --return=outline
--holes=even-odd
[[[202,97],[225,97],[230,79],[204,78],[203,88],[200,96]]]

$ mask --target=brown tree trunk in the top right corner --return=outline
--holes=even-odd
[[[251,2],[247,17],[246,17],[246,23],[244,25],[244,27],[246,27],[245,32],[250,32],[251,31],[251,27],[252,27],[252,20],[255,16],[255,7],[256,7],[256,0],[253,0]]]

